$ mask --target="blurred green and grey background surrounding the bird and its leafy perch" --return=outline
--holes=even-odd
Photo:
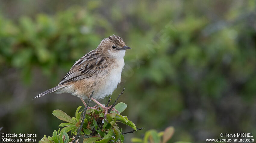
[[[1,132],[37,134],[38,141],[58,130],[52,111],[73,116],[80,99],[33,98],[115,34],[132,50],[111,98],[124,87],[122,114],[144,127],[125,142],[167,126],[175,127],[170,142],[256,136],[255,11],[254,0],[0,0]]]

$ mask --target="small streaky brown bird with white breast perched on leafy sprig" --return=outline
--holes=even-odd
[[[111,95],[120,83],[126,49],[131,48],[126,47],[119,36],[114,35],[103,39],[95,50],[85,54],[74,63],[58,86],[35,98],[55,91],[57,93],[67,92],[80,98],[86,106],[84,99],[88,99],[94,91],[92,100],[106,110],[107,107],[96,99]]]

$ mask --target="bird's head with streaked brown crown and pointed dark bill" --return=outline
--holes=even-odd
[[[97,49],[102,51],[102,54],[104,54],[106,57],[123,58],[125,55],[125,50],[131,48],[125,46],[122,38],[113,35],[103,39],[98,45]]]

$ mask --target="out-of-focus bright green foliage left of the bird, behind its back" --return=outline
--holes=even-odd
[[[56,65],[70,68],[77,57],[84,55],[85,47],[95,47],[94,44],[101,40],[92,33],[93,27],[105,29],[106,26],[86,10],[78,12],[76,9],[54,17],[39,14],[35,20],[24,16],[17,24],[0,15],[0,63],[20,69],[27,83],[31,81],[33,66],[40,67],[53,79],[58,72],[54,70]]]

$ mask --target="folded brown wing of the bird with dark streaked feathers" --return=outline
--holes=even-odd
[[[106,70],[107,66],[105,57],[98,55],[94,50],[90,51],[74,63],[59,85],[97,75]]]

